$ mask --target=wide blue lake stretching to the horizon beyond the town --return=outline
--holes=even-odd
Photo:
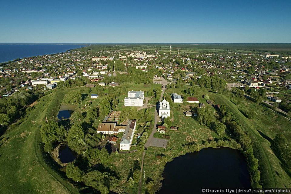
[[[17,58],[66,52],[86,45],[65,44],[0,44],[0,63]]]

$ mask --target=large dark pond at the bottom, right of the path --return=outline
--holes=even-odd
[[[201,193],[207,187],[250,188],[246,158],[230,148],[205,148],[168,162],[159,194]]]

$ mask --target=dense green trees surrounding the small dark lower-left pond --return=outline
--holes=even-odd
[[[87,116],[88,114],[91,113],[87,113]],[[110,156],[107,149],[99,147],[102,137],[100,134],[96,134],[95,129],[85,130],[82,125],[74,123],[66,130],[56,122],[47,122],[42,125],[40,130],[46,152],[52,151],[53,143],[67,141],[68,146],[79,154],[74,162],[66,166],[68,178],[76,182],[84,182],[85,185],[105,194],[109,190],[114,190],[119,184],[119,177],[116,176],[116,173],[93,168],[96,165],[107,165]]]

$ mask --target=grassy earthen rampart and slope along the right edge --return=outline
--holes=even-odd
[[[205,92],[197,91],[202,96]],[[275,156],[271,141],[277,132],[283,132],[290,139],[291,122],[282,116],[273,113],[261,105],[244,99],[239,107],[224,95],[208,92],[209,99],[214,104],[225,104],[226,107],[239,119],[246,129],[246,133],[253,142],[254,156],[259,159],[259,170],[261,171],[261,182],[264,187],[285,187],[291,186],[291,179],[282,168],[281,162]],[[252,121],[246,118],[248,108],[256,110],[256,116]]]

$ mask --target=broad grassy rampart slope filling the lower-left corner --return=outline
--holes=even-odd
[[[2,136],[1,193],[78,193],[46,163],[39,141],[39,128],[56,96],[52,92],[40,98],[32,111]]]

